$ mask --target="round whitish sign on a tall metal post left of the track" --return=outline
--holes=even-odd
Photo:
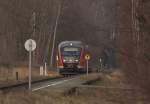
[[[25,42],[25,49],[29,52],[29,90],[31,90],[32,51],[34,51],[36,49],[36,42],[32,39],[28,39]]]

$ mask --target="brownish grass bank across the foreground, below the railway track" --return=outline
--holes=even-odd
[[[95,76],[93,76],[95,77]],[[96,78],[96,77],[95,77]],[[111,78],[111,80],[109,80]],[[118,77],[107,76],[107,80],[100,80],[94,86],[110,86]],[[91,77],[81,77],[82,80],[91,80]],[[108,81],[109,80],[109,81]],[[105,82],[106,81],[106,82]],[[108,82],[110,83],[108,83]],[[107,84],[106,84],[107,83]],[[92,85],[93,86],[93,85]],[[70,93],[69,93],[70,92]],[[148,99],[139,91],[123,89],[106,89],[88,87],[88,85],[65,88],[60,91],[47,88],[36,92],[1,93],[0,104],[150,104]]]

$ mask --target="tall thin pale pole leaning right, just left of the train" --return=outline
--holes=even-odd
[[[50,60],[50,66],[53,67],[53,57],[54,57],[54,50],[55,50],[55,40],[56,40],[56,34],[57,34],[57,27],[58,27],[58,22],[59,22],[59,17],[61,14],[61,3],[59,4],[58,7],[58,13],[56,17],[56,22],[55,22],[55,28],[54,28],[54,37],[53,37],[53,45],[52,45],[52,51],[51,51],[51,60]]]

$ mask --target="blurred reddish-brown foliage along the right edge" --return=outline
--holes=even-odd
[[[132,22],[128,22],[132,23],[128,24],[132,27],[132,31],[122,32],[120,36],[120,51],[125,53],[121,54],[122,67],[130,83],[150,91],[150,32],[148,30],[150,29],[150,21],[146,18],[150,16],[148,13],[150,2],[133,1],[134,4],[131,7],[133,10],[130,10],[133,13],[128,15],[130,18],[133,16]],[[125,27],[129,27],[128,25]]]

